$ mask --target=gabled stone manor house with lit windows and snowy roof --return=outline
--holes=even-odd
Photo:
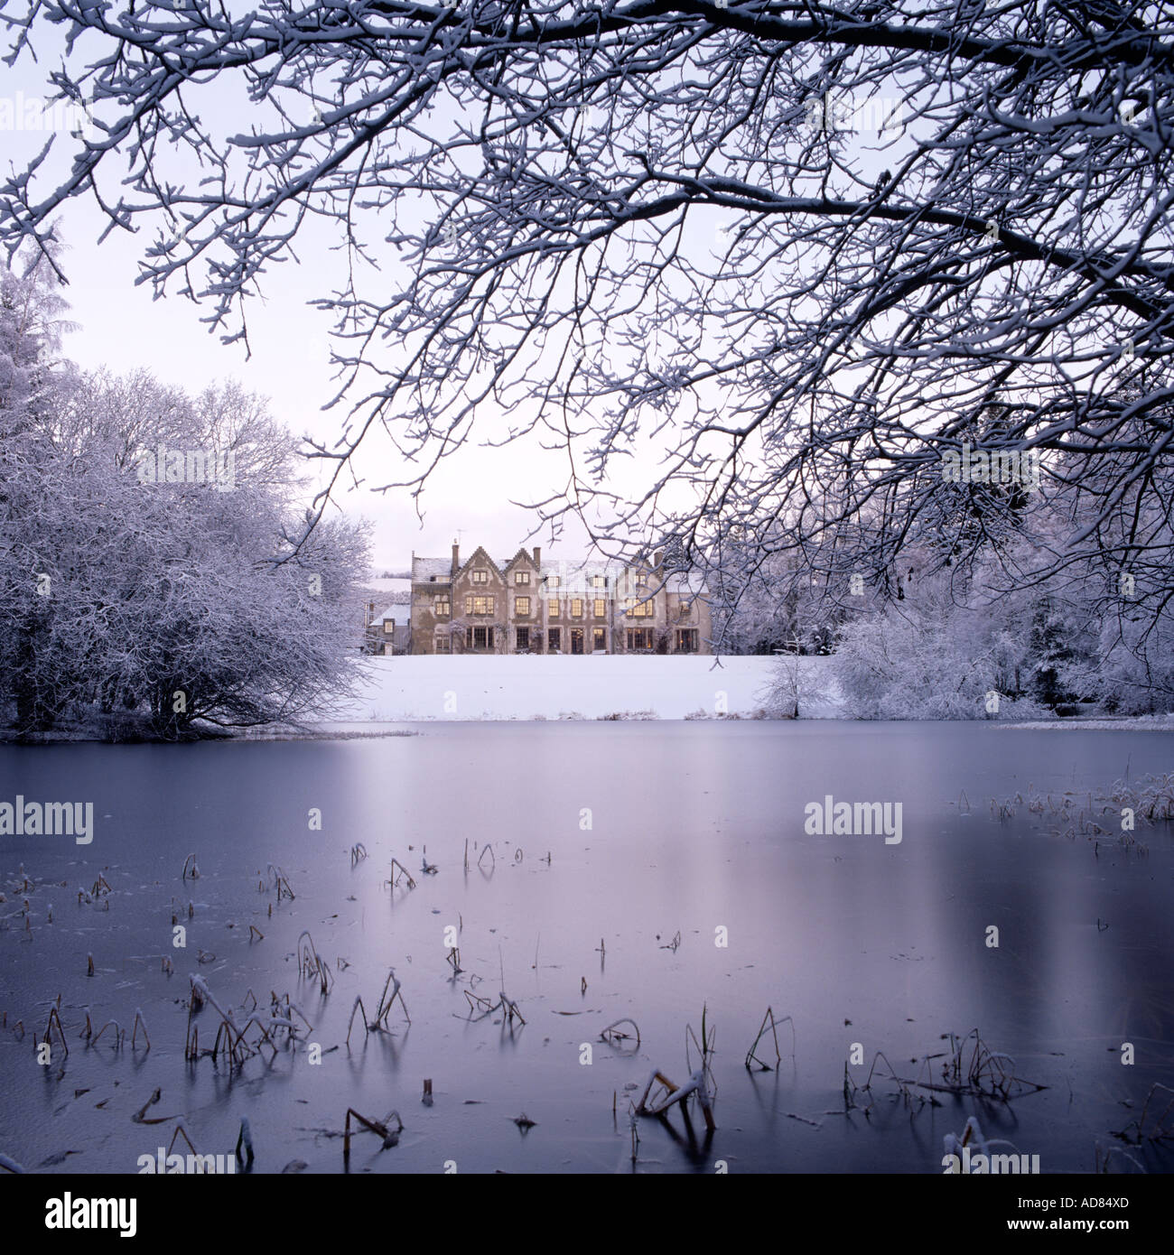
[[[649,566],[412,556],[413,654],[708,654],[704,587]]]

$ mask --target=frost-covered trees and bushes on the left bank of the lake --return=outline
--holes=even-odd
[[[364,532],[326,522],[274,562],[291,555],[293,447],[256,398],[147,375],[50,388],[29,325],[0,306],[0,344],[20,346],[0,432],[5,722],[178,737],[325,713],[353,680]],[[231,453],[231,487],[143,482],[161,447]]]

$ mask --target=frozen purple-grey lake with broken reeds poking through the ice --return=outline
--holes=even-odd
[[[73,1152],[46,1170],[134,1172],[173,1132],[173,1119],[132,1119],[158,1088],[148,1118],[182,1114],[201,1153],[231,1152],[247,1116],[264,1172],[294,1160],[342,1171],[342,1140],[329,1135],[348,1107],[375,1118],[397,1108],[404,1123],[384,1151],[363,1133],[350,1171],[442,1172],[452,1161],[458,1172],[712,1172],[723,1161],[731,1172],[940,1172],[943,1136],[971,1114],[988,1137],[1038,1155],[1043,1172],[1091,1171],[1097,1145],[1121,1146],[1112,1131],[1150,1086],[1174,1084],[1169,832],[1139,831],[1145,857],[1105,838],[1094,851],[1048,835],[1025,807],[999,822],[988,804],[1030,786],[1095,791],[1169,771],[1168,734],[757,722],[411,730],[0,747],[0,801],[94,803],[88,846],[0,836],[0,1152],[26,1168]],[[829,794],[900,803],[900,842],[809,835],[805,808]],[[491,842],[496,866],[486,856],[463,871],[466,840],[471,861],[475,843]],[[369,858],[352,867],[355,842]],[[421,871],[423,846],[436,875]],[[202,875],[185,882],[188,853]],[[389,890],[392,856],[414,890]],[[293,901],[259,891],[269,863]],[[110,891],[79,904],[99,873]],[[186,949],[172,945],[173,912]],[[264,940],[250,944],[250,924]],[[458,929],[456,976],[447,926]],[[299,980],[304,929],[334,976],[326,998]],[[392,965],[411,1028],[397,1008],[392,1034],[364,1040],[357,1027],[348,1050],[355,995],[373,1014]],[[472,978],[496,998],[502,971],[526,1025],[511,1030],[500,1014],[470,1023]],[[272,1062],[267,1050],[239,1069],[185,1062],[190,973],[225,1008],[249,990],[266,1007],[271,990],[288,991],[313,1032]],[[41,1067],[33,1033],[58,994],[69,1054],[55,1045]],[[625,1087],[643,1087],[653,1067],[687,1078],[686,1025],[701,1033],[703,1004],[717,1034],[717,1132],[707,1142],[694,1122],[691,1141],[677,1112],[669,1127],[643,1119],[633,1168],[638,1091]],[[795,1053],[787,1028],[778,1071],[751,1076],[743,1055],[768,1004],[794,1017]],[[95,1027],[127,1028],[141,1008],[151,1050],[129,1039],[116,1050],[113,1030],[88,1047],[85,1008]],[[620,1017],[638,1022],[638,1049],[599,1040]],[[201,1045],[215,1020],[210,1007],[196,1017]],[[940,1106],[910,1108],[874,1079],[869,1114],[845,1114],[854,1044],[865,1059],[850,1068],[856,1084],[878,1050],[909,1078],[910,1060],[948,1048],[943,1034],[976,1027],[1047,1088],[1010,1104],[935,1092]],[[306,1042],[321,1047],[320,1064]],[[773,1064],[772,1049],[760,1054]],[[536,1122],[526,1133],[511,1122],[522,1112]],[[1171,1167],[1169,1151],[1134,1153],[1149,1171]]]

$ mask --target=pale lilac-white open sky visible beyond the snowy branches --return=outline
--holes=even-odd
[[[45,51],[38,48],[40,65],[28,59],[21,59],[15,69],[0,65],[0,168],[5,173],[10,166],[21,169],[48,138],[46,125],[53,125],[53,119],[46,123],[40,110],[46,94],[45,74],[51,67],[51,56],[46,58]],[[221,134],[247,129],[264,112],[262,107],[236,99],[231,82],[221,87],[217,80],[200,89],[197,102],[200,117]],[[98,112],[105,113],[102,108]],[[264,120],[257,124],[264,125]],[[46,172],[68,169],[77,147],[78,141],[63,133],[58,119],[58,139]],[[113,167],[124,171],[126,158],[116,156]],[[178,159],[172,162],[172,173],[191,182],[190,168]],[[54,182],[43,178],[39,195],[46,195]],[[691,232],[696,237],[691,246],[708,250],[717,238],[717,227],[726,220],[717,211],[692,218],[696,225]],[[323,412],[335,393],[326,348],[330,318],[308,302],[342,286],[343,261],[316,226],[311,223],[295,242],[300,264],[274,266],[262,276],[264,300],[256,300],[249,314],[251,356],[246,356],[242,344],[222,345],[218,333],[210,334],[201,323],[211,310],[208,302],[197,306],[176,295],[153,300],[149,285],[136,285],[137,262],[156,242],[157,220],[148,226],[143,217],[137,235],[114,232],[99,245],[105,222],[93,198],[69,202],[59,217],[59,235],[68,248],[63,264],[69,286],[64,295],[72,305],[69,316],[80,325],[65,344],[70,358],[83,368],[107,366],[117,374],[147,368],[164,383],[192,393],[211,382],[235,378],[251,392],[267,397],[274,417],[295,435],[309,433],[324,443],[334,443],[343,429],[347,405],[340,403],[334,410]],[[193,279],[197,287],[206,281],[198,272]],[[504,424],[505,419],[495,422],[492,414],[478,418],[478,438],[500,437]],[[650,443],[643,442],[635,457],[613,467],[608,488],[624,492],[647,486],[654,478],[650,472],[655,463]],[[466,552],[477,543],[492,553],[512,553],[522,543],[540,543],[551,558],[578,561],[586,556],[588,537],[580,525],[568,526],[559,542],[551,545],[549,531],[529,537],[534,515],[510,505],[511,498],[549,497],[566,482],[565,452],[542,452],[532,439],[498,449],[470,447],[442,463],[422,502],[423,525],[402,489],[387,494],[369,492],[370,484],[406,477],[382,430],[374,429],[368,435],[355,469],[364,486],[343,491],[335,499],[348,515],[374,523],[375,570],[401,570],[413,551],[443,556],[457,537]]]

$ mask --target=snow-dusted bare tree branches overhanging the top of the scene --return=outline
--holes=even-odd
[[[230,336],[338,246],[335,481],[382,434],[409,488],[555,437],[552,521],[878,586],[910,546],[981,561],[1025,493],[942,472],[1036,451],[1074,508],[1032,577],[1174,590],[1169,6],[10,0],[4,29],[94,124],[0,184],[0,245],[93,196]]]

